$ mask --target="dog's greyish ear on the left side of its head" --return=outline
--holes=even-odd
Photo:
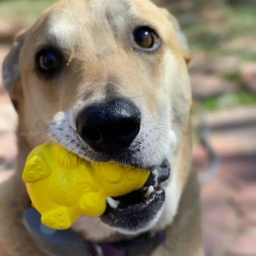
[[[3,84],[9,92],[12,100],[18,100],[17,93],[20,92],[20,67],[19,57],[20,49],[24,43],[26,31],[21,31],[14,39],[10,52],[4,59],[3,64]]]

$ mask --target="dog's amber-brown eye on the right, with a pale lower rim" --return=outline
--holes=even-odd
[[[159,45],[159,37],[156,35],[156,31],[146,26],[136,28],[133,31],[133,40],[135,47],[141,50],[156,50]]]

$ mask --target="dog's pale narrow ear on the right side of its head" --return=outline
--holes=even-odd
[[[191,61],[191,53],[188,49],[188,41],[186,36],[184,36],[183,32],[181,31],[180,24],[178,20],[166,9],[162,8],[162,11],[164,12],[164,15],[168,17],[168,19],[171,21],[173,28],[176,31],[176,35],[180,44],[180,49],[183,53],[184,59],[186,60],[187,64]]]

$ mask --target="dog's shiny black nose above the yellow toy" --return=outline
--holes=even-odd
[[[76,129],[95,151],[113,153],[127,148],[140,132],[140,110],[125,99],[92,104],[76,117]]]

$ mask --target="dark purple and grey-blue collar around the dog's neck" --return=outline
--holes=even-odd
[[[51,256],[148,255],[159,244],[164,243],[164,231],[160,231],[154,236],[150,233],[144,233],[131,240],[95,244],[84,240],[83,236],[71,228],[54,230],[45,227],[35,208],[30,208],[25,212],[24,223],[38,247]]]

